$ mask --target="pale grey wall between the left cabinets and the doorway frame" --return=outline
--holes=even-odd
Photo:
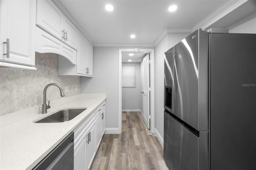
[[[109,133],[118,133],[118,50],[124,48],[136,47],[93,47],[93,77],[80,77],[81,93],[107,94],[106,130]]]

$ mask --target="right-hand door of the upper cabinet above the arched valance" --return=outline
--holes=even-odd
[[[77,49],[78,44],[78,29],[68,18],[64,17],[64,42],[70,45],[71,47]]]

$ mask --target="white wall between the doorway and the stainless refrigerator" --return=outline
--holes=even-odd
[[[164,139],[164,52],[190,33],[168,33],[155,47],[155,129],[163,146]]]

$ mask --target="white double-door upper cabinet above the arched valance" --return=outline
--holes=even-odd
[[[78,29],[51,0],[37,1],[36,25],[77,49]]]

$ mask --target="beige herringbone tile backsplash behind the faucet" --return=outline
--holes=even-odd
[[[49,83],[59,84],[65,97],[81,93],[80,77],[58,75],[58,54],[36,53],[35,67],[37,70],[0,70],[0,116],[42,105],[44,87]],[[58,87],[48,87],[47,101],[60,98]]]

